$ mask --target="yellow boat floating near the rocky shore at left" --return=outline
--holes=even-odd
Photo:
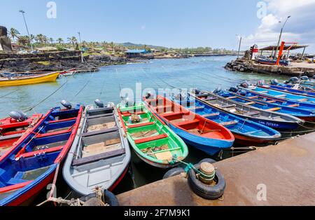
[[[34,76],[17,76],[12,78],[0,77],[0,87],[55,82],[58,76],[59,72],[37,74]]]

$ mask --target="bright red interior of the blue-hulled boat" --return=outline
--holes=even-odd
[[[206,121],[204,118],[193,114],[193,112],[184,109],[169,99],[158,97],[158,99],[150,99],[146,100],[146,102],[165,121],[190,134],[212,139],[226,139],[230,136],[221,125]],[[194,110],[197,109],[200,109],[200,107],[196,107]]]

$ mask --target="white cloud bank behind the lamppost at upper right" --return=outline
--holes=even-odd
[[[315,0],[265,0],[267,13],[261,19],[254,34],[244,38],[246,46],[254,43],[263,46],[276,45],[279,32],[288,15],[286,27],[283,30],[282,40],[308,44],[309,52],[315,52]]]

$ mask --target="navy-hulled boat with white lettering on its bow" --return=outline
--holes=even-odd
[[[268,126],[275,130],[293,130],[298,128],[300,123],[303,123],[299,118],[276,113],[275,111],[278,109],[258,109],[249,104],[241,104],[230,99],[225,99],[212,92],[204,91],[202,94],[195,96],[202,102],[207,103],[216,109],[220,109],[229,114],[234,114],[241,118],[247,118],[248,120],[255,121],[256,123],[260,123],[261,125]]]

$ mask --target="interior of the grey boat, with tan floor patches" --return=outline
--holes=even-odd
[[[88,109],[72,165],[90,165],[111,158],[120,158],[123,163],[125,147],[117,123],[113,107]]]

